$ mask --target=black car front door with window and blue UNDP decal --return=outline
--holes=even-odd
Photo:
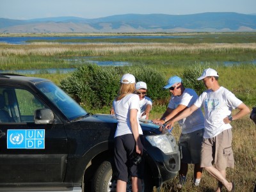
[[[0,186],[12,183],[63,182],[67,138],[53,124],[35,124],[36,109],[49,108],[28,88],[0,85]]]

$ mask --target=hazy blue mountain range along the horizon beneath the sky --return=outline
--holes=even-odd
[[[232,12],[191,15],[125,14],[84,19],[51,17],[30,20],[0,18],[0,33],[141,33],[256,31],[256,14]]]

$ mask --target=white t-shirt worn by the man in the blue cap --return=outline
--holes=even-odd
[[[173,96],[170,99],[168,108],[176,109],[180,104],[188,108],[198,99],[196,92],[190,88],[186,88],[182,95]],[[202,109],[198,108],[191,115],[178,121],[183,134],[204,129],[204,115]]]

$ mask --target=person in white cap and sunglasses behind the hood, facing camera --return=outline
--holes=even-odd
[[[136,94],[140,97],[140,118],[148,119],[149,113],[152,109],[152,100],[146,96],[147,84],[143,81],[139,81],[135,84]]]

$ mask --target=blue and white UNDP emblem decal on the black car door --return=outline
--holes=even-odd
[[[7,148],[45,148],[45,130],[9,129]]]

